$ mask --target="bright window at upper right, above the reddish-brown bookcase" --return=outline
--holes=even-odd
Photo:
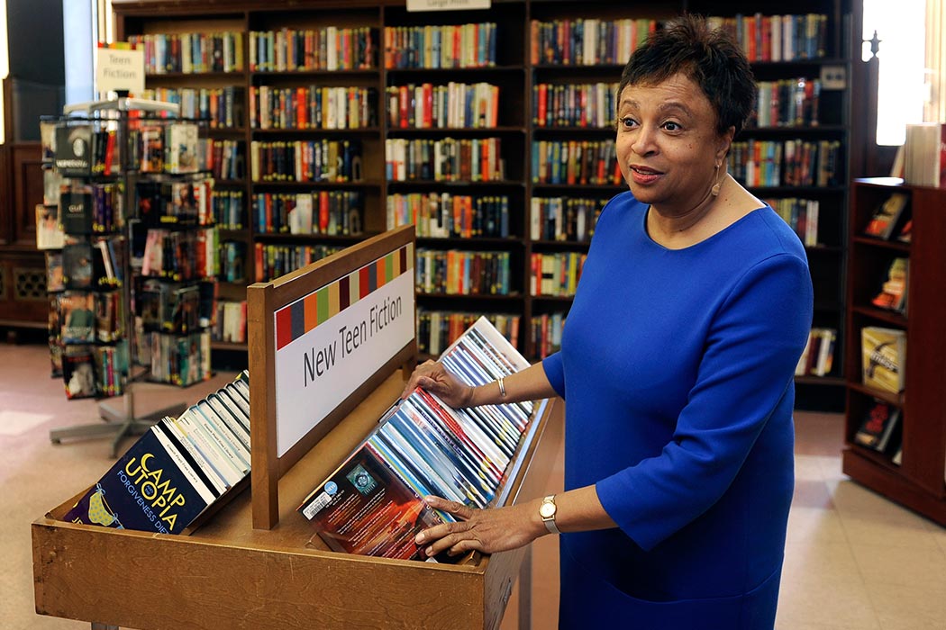
[[[906,125],[923,120],[926,96],[923,23],[924,0],[864,0],[864,39],[874,31],[881,40],[877,95],[877,144],[902,145]],[[918,37],[919,35],[919,37]],[[870,44],[864,44],[864,60]]]

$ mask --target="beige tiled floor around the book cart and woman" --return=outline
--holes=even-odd
[[[103,440],[49,443],[52,428],[96,421],[96,405],[65,400],[61,382],[47,373],[43,346],[0,343],[2,630],[89,627],[35,614],[29,523],[89,485],[114,460]],[[221,373],[183,390],[149,385],[136,396],[136,408],[197,400],[232,376]],[[798,413],[796,423],[797,489],[777,628],[946,630],[946,529],[841,474],[840,417]],[[559,462],[548,489],[561,484]],[[558,599],[552,536],[534,544],[533,557],[533,627],[548,630]],[[503,630],[517,627],[515,590]]]

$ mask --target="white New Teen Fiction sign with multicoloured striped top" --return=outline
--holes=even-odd
[[[275,312],[282,457],[414,335],[413,245]]]

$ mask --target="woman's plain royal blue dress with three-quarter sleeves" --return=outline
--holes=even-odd
[[[812,323],[804,247],[763,207],[684,249],[604,208],[562,349],[565,488],[619,528],[560,540],[560,628],[772,628]]]

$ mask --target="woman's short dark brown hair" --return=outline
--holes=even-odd
[[[720,134],[738,134],[752,113],[756,84],[743,49],[704,18],[683,15],[657,29],[624,66],[618,96],[628,85],[656,85],[682,72],[710,99]]]

